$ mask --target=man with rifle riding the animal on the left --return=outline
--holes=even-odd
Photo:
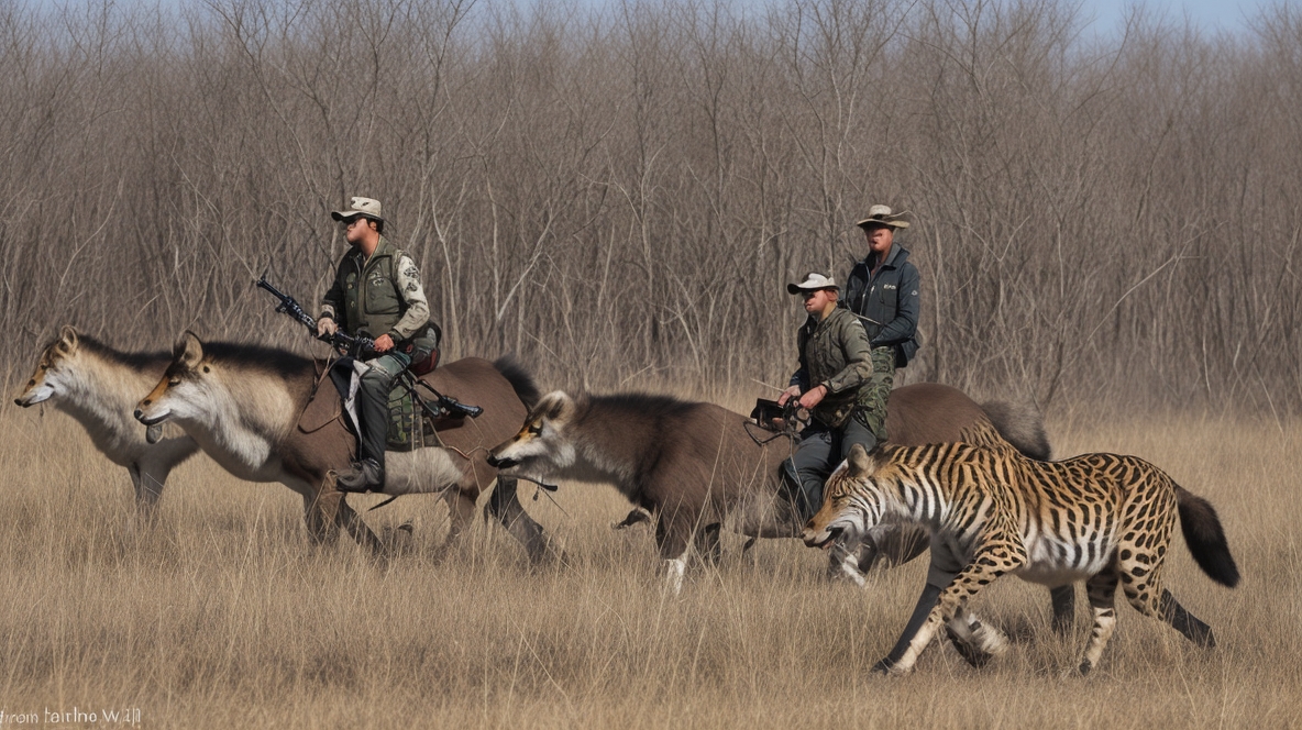
[[[361,458],[350,471],[340,472],[337,480],[346,492],[379,491],[384,484],[389,390],[411,364],[410,347],[405,345],[430,320],[421,272],[411,256],[384,238],[380,212],[379,200],[353,198],[349,210],[331,213],[344,226],[352,250],[344,254],[316,320],[322,336],[342,329],[375,338],[375,351],[363,354],[368,367],[358,386]]]

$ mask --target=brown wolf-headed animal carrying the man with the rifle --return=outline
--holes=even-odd
[[[344,527],[358,543],[379,550],[375,536],[335,487],[332,472],[348,467],[357,444],[340,418],[339,393],[328,379],[322,384],[322,367],[286,350],[203,344],[186,332],[167,372],[137,406],[135,418],[145,424],[172,420],[230,474],[249,481],[280,481],[301,494],[312,540],[333,540],[337,527]],[[450,545],[497,475],[484,463],[487,446],[514,431],[538,389],[509,358],[496,363],[465,358],[423,380],[440,393],[482,406],[483,414],[440,428],[439,437],[450,449],[391,453],[384,493],[441,493],[452,518],[445,543]],[[542,527],[521,507],[516,480],[500,481],[488,511],[531,560],[543,560],[548,547]]]

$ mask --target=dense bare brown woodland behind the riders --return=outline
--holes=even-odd
[[[380,198],[448,354],[544,386],[763,394],[884,202],[924,284],[909,380],[1302,406],[1302,12],[1242,35],[1069,1],[0,4],[4,372],[74,323],[314,347]],[[21,346],[20,346],[21,345]]]

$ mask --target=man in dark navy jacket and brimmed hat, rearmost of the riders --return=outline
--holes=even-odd
[[[901,220],[905,215],[887,206],[868,208],[868,216],[857,224],[867,238],[868,254],[850,269],[838,303],[859,318],[872,346],[872,377],[854,418],[876,442],[887,440],[887,399],[896,368],[907,366],[918,351],[922,282],[909,250],[894,242],[896,230],[909,228]]]

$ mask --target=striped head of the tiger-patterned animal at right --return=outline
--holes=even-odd
[[[842,532],[863,535],[881,520],[885,493],[875,476],[881,476],[885,457],[855,444],[850,455],[823,487],[823,507],[810,518],[801,539],[811,548],[822,547]],[[883,480],[884,481],[884,480]]]

